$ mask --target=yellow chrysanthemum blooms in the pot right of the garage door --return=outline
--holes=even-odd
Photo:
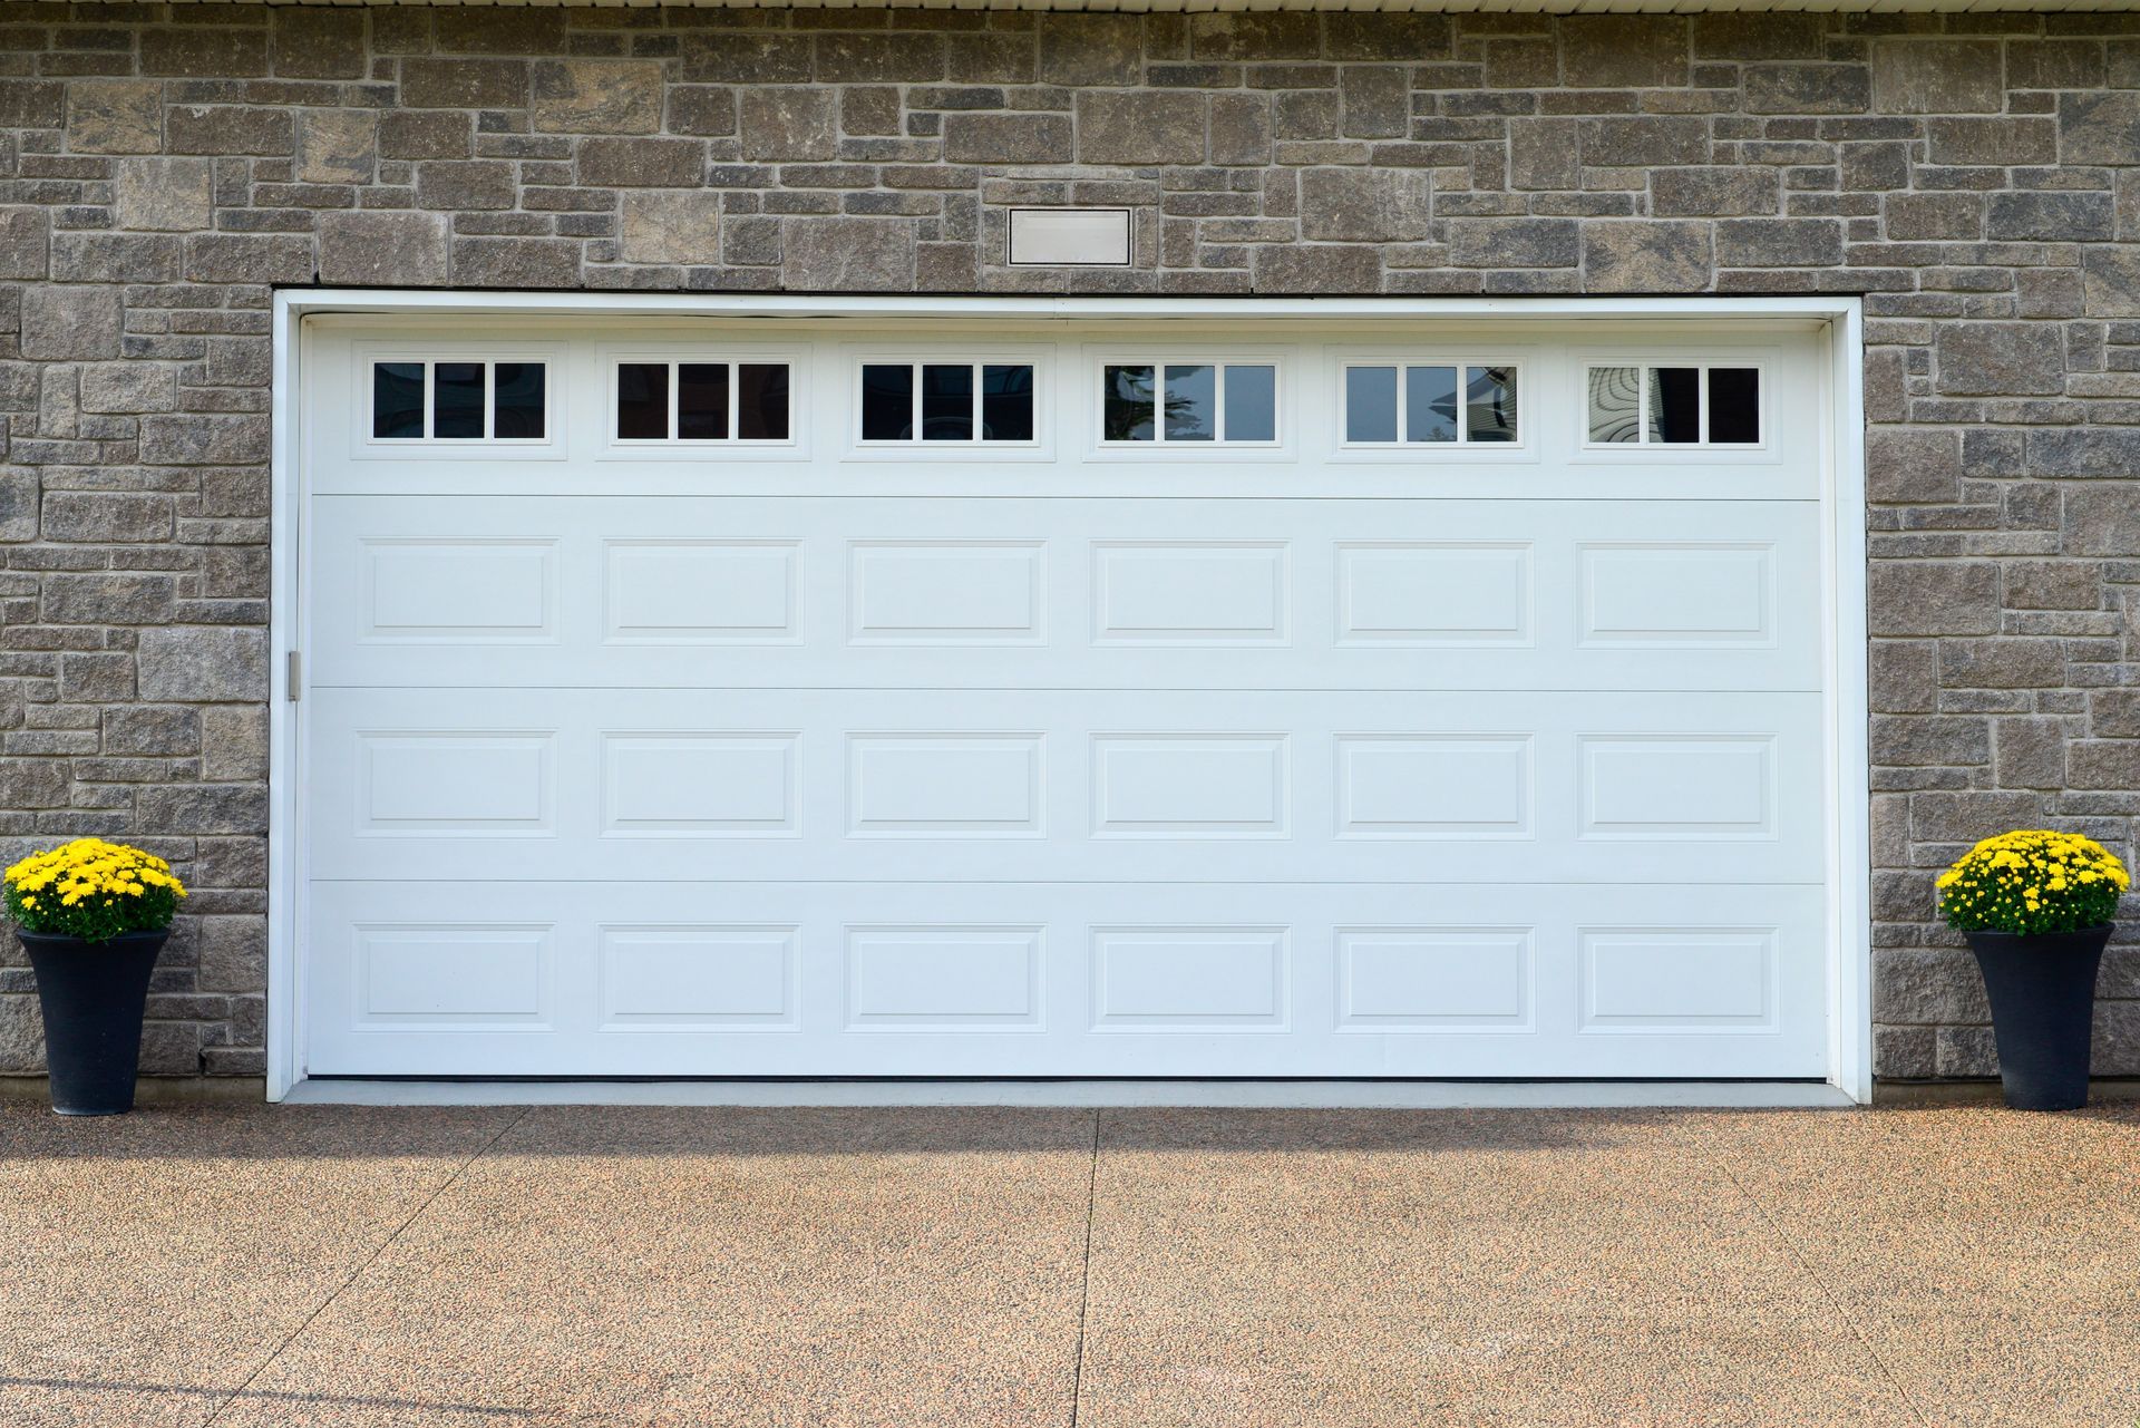
[[[2129,886],[2125,865],[2093,837],[2016,829],[1939,876],[1939,910],[1960,931],[2078,931],[2112,921]]]

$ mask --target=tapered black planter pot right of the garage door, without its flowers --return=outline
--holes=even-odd
[[[2110,925],[2018,936],[1971,931],[1969,951],[1984,970],[1999,1040],[1999,1081],[2016,1111],[2072,1111],[2089,1105],[2089,1049],[2095,1032],[2095,972]]]

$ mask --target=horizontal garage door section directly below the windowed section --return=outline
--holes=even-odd
[[[1819,687],[1804,503],[319,510],[321,685]]]

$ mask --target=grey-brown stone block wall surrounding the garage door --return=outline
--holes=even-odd
[[[2136,86],[2131,15],[0,6],[0,852],[167,852],[148,1064],[261,1070],[274,285],[1866,293],[1877,1062],[1988,1073],[1930,869],[2140,816]]]

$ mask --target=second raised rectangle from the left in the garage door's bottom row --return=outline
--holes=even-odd
[[[603,927],[601,1023],[796,1026],[794,927]]]

